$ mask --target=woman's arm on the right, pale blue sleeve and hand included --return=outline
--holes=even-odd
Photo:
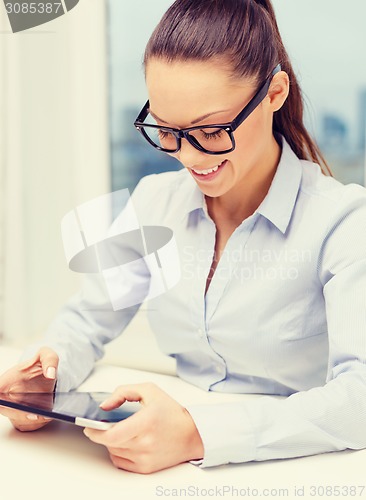
[[[207,467],[366,447],[366,202],[348,205],[330,223],[317,267],[329,330],[324,386],[185,409],[157,388],[120,387],[105,408],[132,399],[143,409],[110,431],[86,431],[117,467],[152,472],[195,459]]]

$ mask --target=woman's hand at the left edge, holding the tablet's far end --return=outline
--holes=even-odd
[[[10,368],[0,376],[0,392],[53,392],[58,367],[57,354],[43,347],[30,360]],[[44,427],[51,419],[0,406],[0,413],[8,417],[19,431],[34,431]]]

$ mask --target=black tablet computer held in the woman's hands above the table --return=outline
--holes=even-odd
[[[81,427],[106,430],[138,411],[139,403],[124,403],[104,411],[99,405],[111,396],[106,392],[12,392],[0,393],[0,405],[70,422]]]

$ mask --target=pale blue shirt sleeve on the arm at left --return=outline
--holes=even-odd
[[[22,359],[26,359],[41,346],[48,346],[57,352],[60,358],[59,391],[74,389],[85,380],[95,362],[103,356],[103,345],[127,327],[149,292],[151,276],[142,258],[141,245],[136,244],[136,238],[124,238],[124,230],[131,225],[130,214],[134,217],[143,212],[146,200],[144,186],[145,180],[140,181],[128,205],[109,231],[109,234],[117,235],[111,239],[107,249],[108,258],[116,263],[112,272],[108,271],[109,279],[114,281],[110,280],[107,284],[106,275],[102,273],[86,275],[81,291],[63,306],[44,338],[23,353]],[[136,226],[138,219],[134,223]],[[117,289],[117,299],[113,299],[113,287]],[[115,303],[122,300],[123,306],[116,307],[112,299]]]

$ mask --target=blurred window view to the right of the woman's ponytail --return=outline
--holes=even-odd
[[[274,0],[274,6],[309,131],[337,179],[365,185],[366,3]]]

